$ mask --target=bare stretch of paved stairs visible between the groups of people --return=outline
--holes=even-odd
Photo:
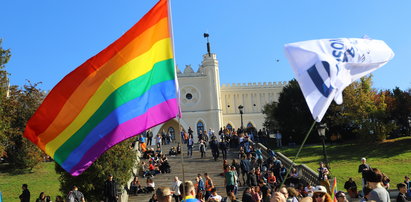
[[[174,144],[170,145],[165,145],[163,148],[164,152],[169,151],[171,146],[175,146]],[[186,146],[183,146],[183,152],[186,154]],[[207,150],[207,157],[201,159],[200,158],[200,152],[198,151],[198,146],[195,145],[193,149],[193,157],[192,158],[187,158],[186,155],[184,155],[184,173],[185,173],[185,180],[191,180],[195,181],[195,177],[197,176],[198,173],[201,173],[202,175],[207,172],[208,175],[213,179],[214,184],[217,188],[217,193],[220,194],[221,196],[225,197],[225,188],[224,188],[224,178],[220,176],[220,173],[223,172],[223,160],[220,155],[220,158],[218,161],[214,161],[212,159],[211,155],[211,150]],[[228,160],[231,163],[232,159],[238,155],[236,150],[230,150],[228,152]],[[182,168],[181,168],[181,156],[176,156],[176,157],[169,157],[169,163],[171,165],[171,173],[168,174],[158,174],[156,175],[154,179],[154,183],[157,187],[161,186],[169,186],[171,187],[174,176],[178,176],[180,180],[183,179],[182,175]],[[141,180],[143,180],[141,178]],[[144,181],[141,181],[142,185],[145,185],[145,179]],[[237,193],[237,198],[240,197],[241,199],[241,194],[243,192],[243,189],[240,187],[239,192]],[[141,202],[146,202],[150,200],[150,197],[152,194],[139,194],[137,196],[130,196],[129,201],[141,201]],[[174,201],[174,200],[173,200]]]

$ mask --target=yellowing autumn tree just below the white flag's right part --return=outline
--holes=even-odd
[[[331,106],[326,120],[335,128],[347,128],[364,141],[382,141],[395,128],[387,114],[386,95],[372,87],[372,76],[353,82],[344,92],[344,103]]]

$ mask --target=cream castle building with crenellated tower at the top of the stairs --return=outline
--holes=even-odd
[[[199,131],[220,128],[263,128],[265,104],[278,101],[286,82],[237,83],[220,85],[219,66],[216,54],[207,53],[197,71],[186,65],[183,72],[177,68],[180,88],[181,129],[194,131],[197,141]],[[239,106],[242,106],[242,113]],[[242,119],[242,120],[241,120]],[[173,119],[153,129],[178,134],[178,120]]]

